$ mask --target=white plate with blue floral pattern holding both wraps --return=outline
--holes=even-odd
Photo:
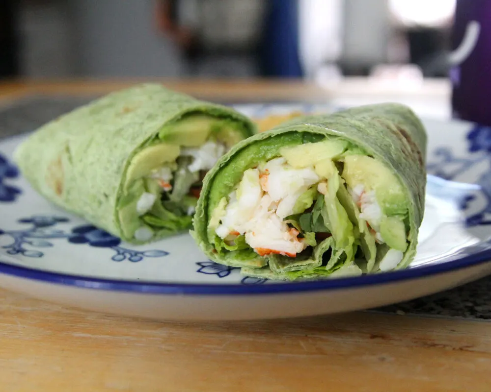
[[[246,105],[248,115],[299,109]],[[317,111],[319,107],[301,107]],[[317,282],[244,277],[183,234],[129,245],[38,196],[0,142],[0,287],[99,312],[153,319],[262,319],[366,309],[491,273],[491,128],[424,121],[426,212],[407,270]]]

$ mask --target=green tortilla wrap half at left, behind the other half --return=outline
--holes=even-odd
[[[144,84],[42,126],[15,160],[41,195],[138,244],[189,229],[205,172],[254,132],[231,108]]]

